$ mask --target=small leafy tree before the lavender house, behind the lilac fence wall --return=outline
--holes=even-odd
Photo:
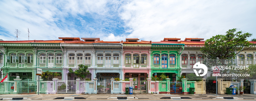
[[[86,75],[89,74],[88,66],[83,64],[78,65],[78,69],[75,71],[72,68],[69,68],[68,71],[69,73],[75,74],[77,77],[81,78],[82,81],[86,78]]]

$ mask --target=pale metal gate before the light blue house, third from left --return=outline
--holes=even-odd
[[[111,82],[105,80],[97,82],[97,93],[111,93]]]

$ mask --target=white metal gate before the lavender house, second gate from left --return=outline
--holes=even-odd
[[[75,80],[58,80],[57,93],[76,93]]]

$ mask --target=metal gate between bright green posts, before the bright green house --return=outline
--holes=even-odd
[[[170,93],[182,93],[182,82],[170,82]]]

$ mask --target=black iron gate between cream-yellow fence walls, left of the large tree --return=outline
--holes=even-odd
[[[206,80],[206,93],[216,94],[216,80]]]

